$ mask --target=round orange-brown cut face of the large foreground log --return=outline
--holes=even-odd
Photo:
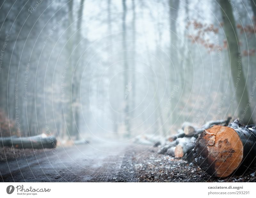
[[[230,127],[215,125],[202,132],[194,149],[196,163],[208,174],[225,178],[243,160],[243,143]]]

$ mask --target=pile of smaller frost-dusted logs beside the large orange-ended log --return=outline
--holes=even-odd
[[[158,154],[167,154],[175,158],[189,157],[192,159],[196,138],[213,125],[228,126],[231,117],[224,120],[216,120],[205,123],[202,127],[197,127],[193,123],[183,123],[181,129],[168,139],[168,142],[160,147]]]

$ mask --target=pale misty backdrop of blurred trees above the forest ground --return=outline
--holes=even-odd
[[[215,0],[1,1],[2,137],[111,144],[186,121],[255,122],[251,3],[228,3],[230,43]]]

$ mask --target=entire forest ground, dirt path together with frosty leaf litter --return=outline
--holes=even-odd
[[[79,145],[39,150],[14,149],[3,159],[4,182],[256,182],[256,167],[242,175],[213,178],[195,163],[157,154],[158,148],[142,145]],[[8,149],[7,149],[8,150]],[[5,149],[6,151],[6,149]],[[22,152],[21,152],[22,151]],[[12,151],[9,152],[12,153]],[[6,153],[6,152],[5,152]]]

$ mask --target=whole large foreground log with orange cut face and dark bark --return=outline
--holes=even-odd
[[[238,120],[228,127],[212,126],[196,140],[193,155],[199,167],[215,177],[247,169],[256,158],[255,126],[242,126]]]

